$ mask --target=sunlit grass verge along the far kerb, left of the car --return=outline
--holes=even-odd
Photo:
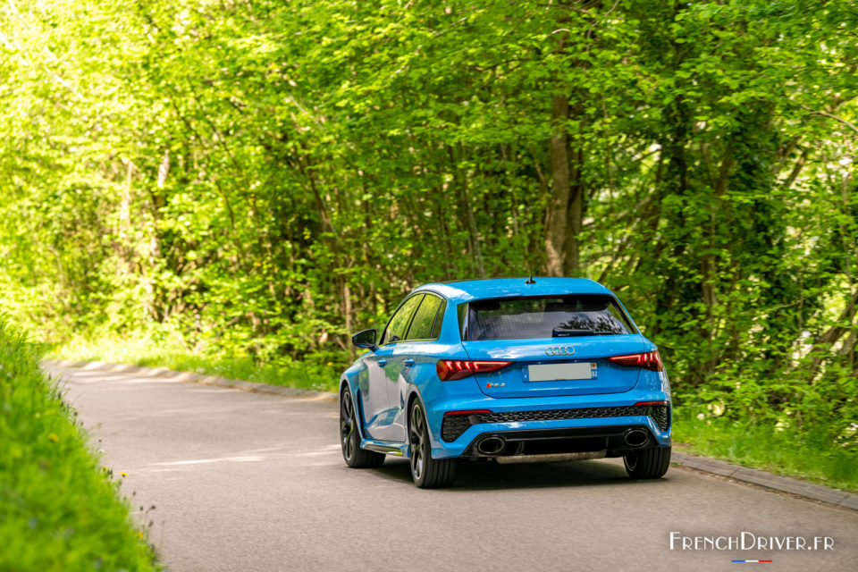
[[[258,364],[248,356],[213,356],[193,353],[175,338],[151,341],[145,334],[130,337],[103,336],[75,339],[54,346],[48,357],[80,361],[104,361],[130,366],[167,367],[181,372],[218,375],[246,382],[285,385],[316,391],[337,391],[342,364],[323,359],[284,360]]]

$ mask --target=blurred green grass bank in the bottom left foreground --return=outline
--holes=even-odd
[[[0,570],[160,569],[37,354],[0,321]]]

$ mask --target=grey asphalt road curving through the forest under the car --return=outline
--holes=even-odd
[[[858,511],[690,469],[633,482],[616,459],[468,465],[455,488],[422,491],[402,459],[345,467],[332,402],[52,372],[173,572],[858,569]],[[682,551],[671,533],[834,545]]]

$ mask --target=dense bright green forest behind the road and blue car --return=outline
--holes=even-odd
[[[330,389],[421,283],[584,276],[659,345],[678,437],[854,487],[856,30],[846,0],[8,0],[0,304],[56,356]]]

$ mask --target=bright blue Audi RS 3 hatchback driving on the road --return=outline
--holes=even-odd
[[[632,478],[670,463],[659,352],[598,282],[504,278],[425,284],[402,300],[340,381],[349,467],[409,458],[418,487],[459,461],[622,457]]]

